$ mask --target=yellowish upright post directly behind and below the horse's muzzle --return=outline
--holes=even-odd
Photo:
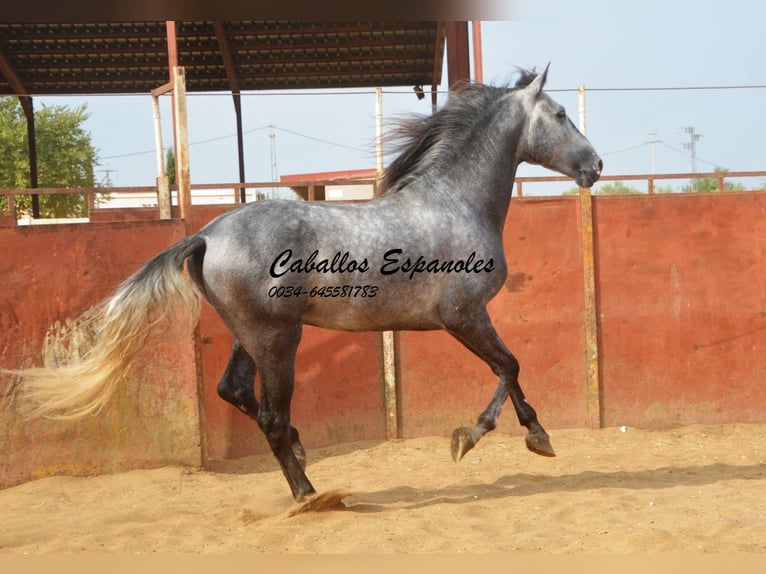
[[[585,86],[580,86],[580,131],[585,135]],[[580,188],[580,233],[582,237],[583,292],[585,305],[583,313],[585,338],[585,404],[588,426],[600,428],[601,377],[598,348],[598,316],[596,294],[596,264],[593,242],[593,198],[590,188]]]

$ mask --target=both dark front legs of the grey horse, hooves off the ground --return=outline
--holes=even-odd
[[[548,434],[537,420],[535,409],[527,402],[519,385],[519,362],[503,344],[487,312],[460,320],[450,325],[448,331],[484,360],[500,378],[495,395],[479,415],[476,425],[460,427],[452,433],[452,458],[455,462],[476,446],[484,434],[497,426],[497,418],[508,396],[511,397],[519,423],[529,430],[526,436],[527,448],[543,456],[555,456]]]

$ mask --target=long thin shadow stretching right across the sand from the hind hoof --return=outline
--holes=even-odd
[[[599,489],[650,490],[676,486],[705,486],[727,480],[766,480],[766,464],[738,466],[713,463],[686,467],[661,467],[639,471],[582,471],[562,476],[517,473],[493,483],[461,483],[440,489],[396,486],[371,492],[354,492],[344,500],[346,511],[369,513],[418,509],[443,504],[466,504],[477,500],[501,500],[551,492]]]

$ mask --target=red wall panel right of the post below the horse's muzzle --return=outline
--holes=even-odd
[[[604,423],[766,420],[766,194],[595,201]]]

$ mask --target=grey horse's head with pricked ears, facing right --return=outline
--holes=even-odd
[[[528,116],[519,161],[542,165],[572,177],[580,187],[590,187],[604,164],[564,107],[543,92],[547,76],[548,66],[518,93]]]

